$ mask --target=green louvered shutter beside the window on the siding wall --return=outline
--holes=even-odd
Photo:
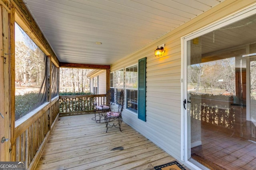
[[[138,63],[138,118],[146,121],[146,57]]]

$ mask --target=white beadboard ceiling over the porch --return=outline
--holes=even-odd
[[[60,62],[103,65],[144,47],[222,1],[24,0]]]

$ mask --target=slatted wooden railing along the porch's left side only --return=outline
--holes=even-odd
[[[55,97],[32,113],[16,121],[16,161],[26,162],[28,170],[34,169],[44,149],[59,113],[59,97]]]

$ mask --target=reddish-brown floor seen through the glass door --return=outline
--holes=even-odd
[[[202,145],[191,149],[192,158],[217,170],[255,170],[256,143],[217,129],[201,129]]]

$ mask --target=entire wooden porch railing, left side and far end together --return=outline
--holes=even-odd
[[[102,104],[106,104],[106,94],[57,96],[24,115],[16,121],[16,161],[26,162],[28,170],[34,169],[60,115],[93,112]]]

